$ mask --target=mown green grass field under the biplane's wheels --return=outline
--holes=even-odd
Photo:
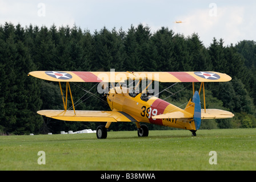
[[[39,165],[38,151],[46,164]],[[210,151],[217,164],[209,164]],[[256,170],[256,129],[0,136],[0,170]]]

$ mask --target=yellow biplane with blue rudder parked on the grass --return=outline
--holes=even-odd
[[[107,137],[107,129],[113,122],[134,122],[139,137],[147,137],[149,129],[141,122],[190,130],[193,136],[201,125],[201,119],[232,118],[233,113],[219,109],[206,109],[205,82],[225,82],[231,77],[218,72],[63,72],[34,71],[29,75],[48,81],[59,82],[63,110],[40,110],[37,113],[62,121],[106,122],[97,127],[97,138]],[[128,82],[127,82],[128,81]],[[66,82],[63,94],[62,82]],[[69,82],[99,82],[98,89],[105,90],[111,111],[75,110]],[[185,109],[174,106],[157,97],[153,82],[191,82],[193,98]],[[195,82],[201,82],[195,91]],[[107,83],[107,84],[106,84]],[[117,84],[115,84],[117,83]],[[110,84],[110,88],[108,86]],[[199,94],[203,89],[204,108],[201,109]],[[98,91],[99,91],[98,90]],[[102,91],[101,90],[101,91]],[[73,110],[67,109],[67,93],[70,93]],[[103,92],[102,92],[103,93]],[[65,96],[64,96],[65,95]]]

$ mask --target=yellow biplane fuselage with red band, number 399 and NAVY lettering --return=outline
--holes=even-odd
[[[154,115],[166,114],[174,111],[184,111],[183,109],[154,96],[147,96],[143,93],[132,95],[129,94],[128,88],[121,89],[117,86],[115,87],[115,90],[110,90],[107,96],[107,102],[111,110],[123,111],[135,118],[138,122],[195,130],[193,119],[153,119],[152,117]]]

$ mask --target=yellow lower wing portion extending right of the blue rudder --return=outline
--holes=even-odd
[[[220,110],[220,109],[202,109],[201,111],[202,119],[224,119],[224,118],[233,118],[234,114],[230,111]]]

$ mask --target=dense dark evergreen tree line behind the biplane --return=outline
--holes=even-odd
[[[131,25],[108,30],[103,27],[93,33],[80,27],[0,25],[0,133],[43,134],[67,130],[96,129],[98,123],[62,122],[37,114],[42,109],[63,109],[58,84],[27,77],[31,71],[216,71],[230,75],[230,82],[206,84],[206,107],[230,110],[232,119],[202,122],[202,129],[256,127],[256,43],[241,40],[223,45],[223,39],[213,38],[205,47],[198,34],[185,37],[162,27],[151,32],[150,27]],[[65,85],[63,85],[65,87]],[[168,84],[160,84],[165,89]],[[79,110],[108,110],[97,97],[93,83],[71,84],[74,100],[82,96]],[[83,89],[85,90],[83,90]],[[199,85],[196,85],[199,88]],[[177,84],[166,98],[177,106],[191,97],[191,85]],[[178,92],[182,90],[182,92]],[[98,95],[98,97],[101,97]],[[167,98],[168,97],[168,98]],[[150,129],[166,129],[149,126]],[[111,130],[135,130],[133,123],[116,123]]]

